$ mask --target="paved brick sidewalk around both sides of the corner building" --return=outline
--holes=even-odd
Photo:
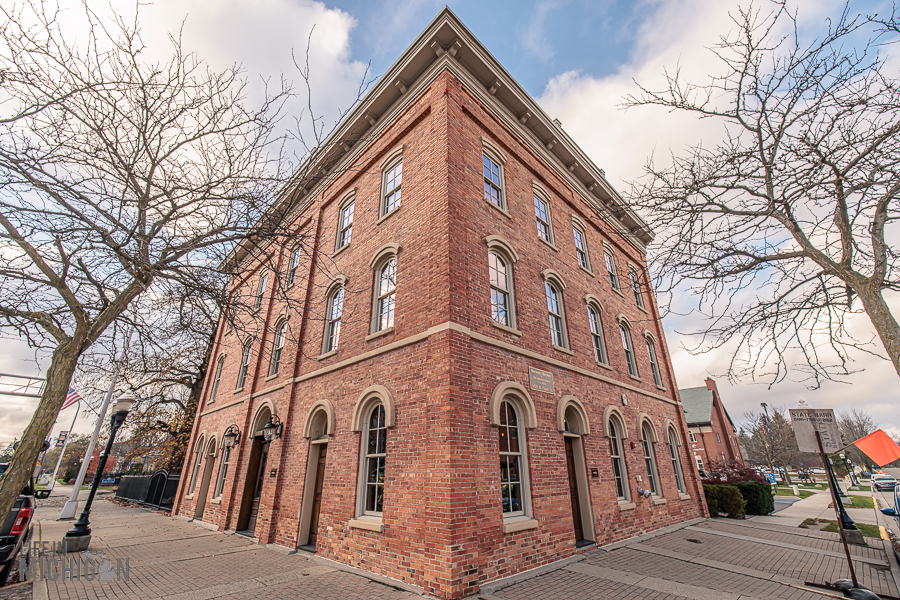
[[[57,508],[38,509],[36,538],[62,538],[71,522],[55,521],[57,514]],[[755,521],[700,521],[615,549],[592,550],[527,579],[489,584],[478,597],[822,600],[828,596],[805,586],[806,581],[848,577],[836,534]],[[128,557],[129,581],[41,581],[34,585],[35,599],[416,597],[303,553],[288,555],[286,549],[264,548],[241,536],[107,500],[95,503],[91,526],[91,550],[105,552],[113,562]],[[852,548],[858,576],[876,593],[900,596],[888,562],[893,557],[878,541],[869,541],[868,547]]]

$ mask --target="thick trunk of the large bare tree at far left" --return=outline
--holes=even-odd
[[[0,478],[0,518],[9,514],[19,493],[34,473],[34,465],[41,446],[56,421],[59,410],[69,393],[69,385],[78,364],[78,349],[72,340],[62,342],[53,351],[53,360],[47,370],[44,393],[31,422],[22,434],[22,441],[9,462],[9,468]]]

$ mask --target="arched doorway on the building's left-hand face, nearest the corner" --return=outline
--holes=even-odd
[[[328,436],[333,433],[334,409],[327,400],[320,400],[310,409],[303,430],[303,437],[309,439],[309,455],[306,461],[297,547],[309,552],[315,552],[318,541],[319,514],[322,507],[322,493],[325,489]]]

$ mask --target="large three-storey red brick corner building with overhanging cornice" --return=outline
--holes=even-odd
[[[316,160],[305,258],[236,257],[268,326],[220,324],[174,514],[443,598],[705,514],[652,234],[452,12]]]

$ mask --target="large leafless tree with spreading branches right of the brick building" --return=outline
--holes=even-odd
[[[651,158],[632,189],[660,233],[661,303],[693,294],[707,320],[692,351],[729,345],[732,378],[773,384],[796,370],[818,386],[851,373],[854,350],[877,351],[848,329],[863,312],[900,373],[900,326],[883,297],[900,289],[900,79],[879,53],[896,20],[848,5],[806,42],[784,1],[732,18],[736,32],[711,49],[720,75],[696,84],[676,70],[665,89],[626,99],[724,133],[671,166]]]

